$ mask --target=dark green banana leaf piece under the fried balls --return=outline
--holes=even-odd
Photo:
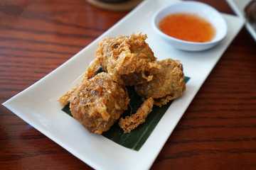
[[[190,78],[184,77],[184,82],[188,82]],[[128,110],[122,114],[124,118],[126,115],[134,114],[137,112],[137,109],[142,105],[142,97],[138,96],[135,92],[134,86],[127,86],[130,103]],[[148,139],[153,132],[154,128],[156,127],[159,120],[163,117],[164,113],[166,113],[167,109],[171,105],[172,101],[167,103],[164,106],[158,107],[154,106],[152,108],[151,113],[149,113],[148,117],[146,118],[146,122],[139,125],[136,129],[132,130],[132,132],[124,133],[122,128],[119,127],[118,121],[114,123],[110,130],[107,132],[103,132],[102,135],[107,137],[109,140],[116,142],[123,147],[127,147],[129,149],[134,149],[139,151],[139,149],[144,145],[144,142]],[[72,116],[70,113],[69,105],[65,106],[62,109],[65,113]]]

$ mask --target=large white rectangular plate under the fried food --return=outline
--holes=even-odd
[[[162,42],[151,28],[153,13],[176,2],[178,0],[143,1],[77,55],[3,105],[95,169],[149,169],[203,81],[244,24],[240,17],[223,14],[228,23],[228,35],[220,45],[203,52],[176,50]],[[98,40],[132,32],[146,33],[147,42],[159,60],[168,57],[181,60],[185,75],[191,77],[186,84],[186,92],[171,104],[139,152],[117,145],[102,135],[90,134],[80,123],[63,113],[63,106],[57,101],[80,81],[80,76],[94,58]]]

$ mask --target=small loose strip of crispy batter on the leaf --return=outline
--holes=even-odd
[[[131,130],[137,128],[138,125],[144,123],[147,115],[152,111],[153,104],[153,98],[148,98],[142,103],[137,113],[126,116],[125,118],[120,118],[118,124],[124,130],[124,133],[129,133]]]

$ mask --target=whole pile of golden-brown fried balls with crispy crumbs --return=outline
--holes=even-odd
[[[70,103],[73,118],[89,132],[101,134],[109,130],[127,110],[129,96],[125,86],[135,86],[144,103],[137,113],[119,119],[124,133],[144,123],[154,105],[161,107],[186,90],[181,62],[156,61],[145,40],[142,33],[102,39],[82,83],[58,100],[63,105]],[[99,67],[105,72],[97,74]]]

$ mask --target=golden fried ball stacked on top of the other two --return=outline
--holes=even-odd
[[[85,78],[93,77],[98,65],[119,84],[132,86],[151,81],[152,71],[159,69],[156,57],[146,43],[146,35],[104,38],[98,43],[95,60],[85,72]]]

